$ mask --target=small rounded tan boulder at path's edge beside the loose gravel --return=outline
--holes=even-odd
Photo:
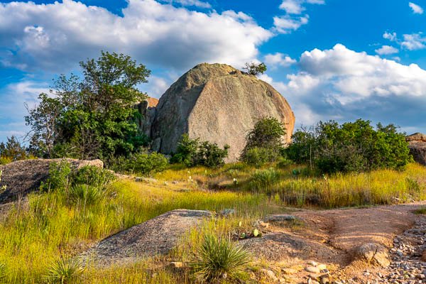
[[[363,261],[373,266],[386,268],[391,264],[388,250],[381,244],[367,243],[354,249],[354,261]]]

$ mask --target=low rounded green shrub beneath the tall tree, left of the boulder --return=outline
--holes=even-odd
[[[119,173],[151,175],[160,173],[168,167],[168,159],[163,154],[143,151],[129,157],[120,157],[114,161],[111,168]]]

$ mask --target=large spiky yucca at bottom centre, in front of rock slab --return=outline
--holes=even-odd
[[[230,239],[206,234],[193,264],[195,275],[204,283],[237,280],[245,274],[251,254],[236,246]]]

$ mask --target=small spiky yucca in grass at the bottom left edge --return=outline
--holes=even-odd
[[[44,276],[44,280],[48,283],[70,283],[71,280],[78,278],[84,271],[82,263],[75,259],[60,258],[53,262],[48,268],[48,273]]]

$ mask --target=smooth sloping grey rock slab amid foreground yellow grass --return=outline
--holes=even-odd
[[[165,255],[202,219],[208,211],[177,209],[121,231],[100,241],[82,254],[85,261],[99,265],[132,263],[148,256]]]

